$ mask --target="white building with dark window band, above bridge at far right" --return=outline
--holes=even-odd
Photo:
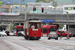
[[[63,14],[66,14],[66,12],[68,12],[69,14],[75,14],[75,4],[60,5],[60,6],[57,6],[56,8],[62,9]]]

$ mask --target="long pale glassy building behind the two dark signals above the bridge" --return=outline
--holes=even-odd
[[[36,11],[33,12],[33,7],[36,7]],[[27,12],[30,13],[42,13],[42,8],[44,8],[43,13],[50,13],[49,10],[54,9],[53,6],[51,6],[50,3],[27,3]],[[25,5],[11,5],[12,13],[16,13],[20,11],[22,13],[25,13]]]

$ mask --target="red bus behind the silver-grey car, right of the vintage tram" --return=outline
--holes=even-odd
[[[42,36],[48,36],[50,31],[56,31],[57,25],[42,25],[41,26],[41,33]]]

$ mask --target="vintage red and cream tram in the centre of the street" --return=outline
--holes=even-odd
[[[35,28],[31,28],[32,25]],[[24,23],[25,35],[24,38],[26,40],[39,40],[41,38],[41,21],[40,20],[29,20]]]

